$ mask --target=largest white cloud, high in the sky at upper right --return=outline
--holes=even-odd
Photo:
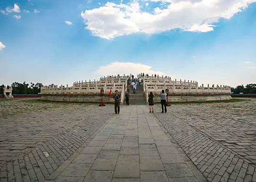
[[[94,36],[114,39],[131,33],[160,33],[171,29],[209,32],[219,19],[230,19],[256,0],[149,0],[168,4],[153,13],[142,12],[136,0],[128,4],[106,3],[81,13]]]

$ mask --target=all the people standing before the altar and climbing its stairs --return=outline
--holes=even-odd
[[[144,73],[142,74],[142,76],[144,76]],[[148,75],[146,75],[148,76]],[[156,75],[155,75],[156,76]],[[129,98],[130,98],[130,89],[132,88],[133,93],[136,93],[136,89],[138,86],[141,85],[141,78],[139,77],[139,75],[137,75],[137,78],[134,75],[131,75],[131,77],[128,76],[127,80],[126,80],[126,94],[125,94],[125,102],[126,105],[129,105]],[[162,113],[166,113],[167,112],[167,108],[166,108],[166,93],[164,90],[162,90],[158,96],[161,97],[161,106],[162,106]],[[150,92],[150,94],[148,95],[148,105],[149,105],[149,112],[154,113],[154,97],[155,95],[153,94],[153,92]],[[115,114],[119,114],[120,113],[120,102],[121,102],[121,96],[120,94],[118,94],[118,90],[115,91],[115,95],[113,97],[113,99],[115,100]]]

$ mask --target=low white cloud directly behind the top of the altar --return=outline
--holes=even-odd
[[[98,70],[95,72],[98,73],[101,76],[107,76],[107,75],[136,75],[140,73],[148,74],[150,75],[159,75],[159,76],[166,76],[165,73],[162,71],[154,71],[151,69],[151,66],[143,65],[141,63],[132,63],[132,62],[111,62],[109,65],[101,66]],[[175,75],[167,75],[170,77],[175,77]]]

